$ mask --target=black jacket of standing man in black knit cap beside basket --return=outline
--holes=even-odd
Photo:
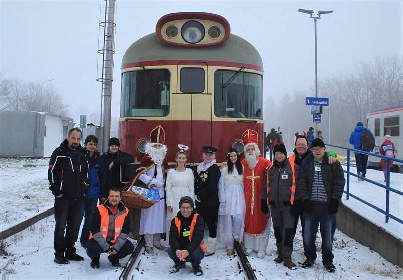
[[[109,150],[102,154],[104,164],[105,184],[102,186],[100,197],[108,197],[108,190],[111,187],[123,187],[120,181],[120,165],[132,163],[135,161],[133,155],[118,151],[116,154],[111,154]],[[112,170],[109,170],[110,163],[113,162]]]

